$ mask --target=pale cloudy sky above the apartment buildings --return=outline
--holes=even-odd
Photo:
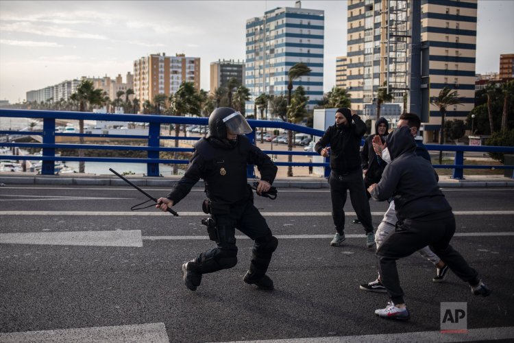
[[[336,56],[346,54],[347,1],[302,1],[325,11],[323,90],[335,84]],[[3,1],[0,0],[0,99],[23,102],[27,91],[82,76],[133,73],[149,54],[245,60],[247,19],[295,1]],[[514,1],[479,0],[476,72],[498,72],[514,53]]]

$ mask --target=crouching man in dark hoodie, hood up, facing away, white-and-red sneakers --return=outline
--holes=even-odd
[[[455,217],[452,207],[437,185],[429,161],[415,154],[416,143],[408,127],[397,128],[386,139],[391,154],[382,179],[368,189],[375,200],[393,198],[398,218],[396,230],[376,252],[382,283],[391,302],[375,314],[382,318],[408,320],[404,292],[396,268],[396,260],[430,246],[450,270],[469,283],[475,295],[489,296],[491,290],[478,279],[478,273],[452,246]]]

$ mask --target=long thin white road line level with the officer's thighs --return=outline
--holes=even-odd
[[[204,212],[182,212],[180,209],[174,208],[178,211],[179,217],[197,217],[199,215],[205,216]],[[514,215],[514,211],[454,211],[454,215]],[[327,217],[331,216],[330,212],[261,212],[265,217]],[[170,215],[167,212],[152,211],[152,212],[106,212],[106,211],[0,211],[0,215],[123,215],[123,216],[145,216],[145,215]],[[356,215],[355,212],[345,212],[345,215]],[[384,215],[384,212],[371,212],[371,215]]]

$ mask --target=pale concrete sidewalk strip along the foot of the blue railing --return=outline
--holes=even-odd
[[[171,187],[180,176],[149,177],[143,175],[125,176],[140,187]],[[252,180],[249,180],[249,182]],[[77,185],[77,186],[124,186],[125,181],[117,176],[92,174],[37,175],[35,173],[0,173],[0,184],[12,185]],[[320,176],[278,176],[273,182],[278,188],[321,189],[328,188],[326,178]],[[464,180],[454,180],[449,176],[440,176],[440,187],[514,187],[514,179],[501,175],[467,175]],[[195,187],[204,187],[200,181]]]

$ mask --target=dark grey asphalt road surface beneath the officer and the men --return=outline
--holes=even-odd
[[[156,198],[168,191],[146,190]],[[329,246],[334,229],[328,189],[284,189],[274,201],[256,198],[279,237],[269,269],[273,292],[243,283],[249,239],[238,239],[235,268],[204,275],[197,292],[190,292],[180,266],[213,246],[200,224],[201,189],[177,204],[182,215],[173,217],[153,208],[131,213],[130,206],[145,198],[127,187],[1,187],[0,342],[25,337],[6,333],[151,323],[162,323],[169,342],[395,333],[408,340],[409,333],[439,332],[441,302],[467,303],[467,329],[493,338],[487,328],[514,327],[514,189],[443,191],[456,213],[459,235],[452,245],[493,294],[473,296],[454,274],[432,283],[435,268],[415,254],[398,262],[411,320],[394,322],[374,316],[387,296],[358,288],[376,278],[363,228],[347,224],[346,244]],[[374,226],[385,209],[387,203],[371,202]],[[350,201],[345,211],[350,222]],[[114,230],[140,230],[142,246],[2,243],[3,234]]]

